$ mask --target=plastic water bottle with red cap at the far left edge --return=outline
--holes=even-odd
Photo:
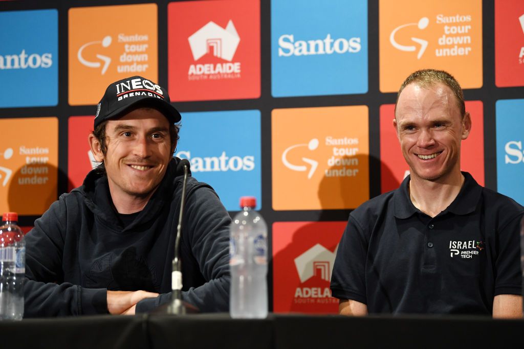
[[[24,316],[26,245],[15,212],[4,213],[0,227],[0,320]]]

